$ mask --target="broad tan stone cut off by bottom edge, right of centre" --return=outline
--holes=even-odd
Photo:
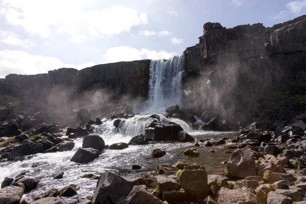
[[[219,191],[218,203],[219,204],[227,204],[227,203],[261,204],[261,201],[253,193],[243,190],[230,190],[222,188]]]

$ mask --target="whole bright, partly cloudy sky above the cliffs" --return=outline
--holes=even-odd
[[[306,0],[0,0],[0,78],[169,59],[206,22],[271,27],[305,13]]]

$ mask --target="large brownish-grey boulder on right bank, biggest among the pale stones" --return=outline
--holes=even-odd
[[[256,175],[256,163],[253,150],[248,147],[236,149],[225,166],[224,174],[230,178],[243,179],[247,176]]]

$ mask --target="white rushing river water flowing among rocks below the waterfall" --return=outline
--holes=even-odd
[[[96,126],[95,133],[100,135],[106,144],[113,144],[116,142],[129,142],[130,139],[139,133],[144,133],[147,125],[149,115],[135,116],[129,119],[122,119],[119,125],[119,132],[114,132],[112,121],[106,121],[101,125]],[[189,134],[193,135],[196,140],[207,139],[215,136],[231,137],[232,133],[220,132],[205,132],[194,131],[189,125],[180,119],[168,119],[161,116],[161,122],[167,123],[173,121],[179,123],[183,129]],[[228,136],[230,135],[230,136]],[[200,143],[197,149],[200,152],[200,157],[190,158],[181,154],[182,150],[194,147],[194,142],[180,143],[180,142],[161,142],[148,145],[130,145],[122,150],[105,149],[98,159],[87,163],[77,164],[70,162],[71,157],[75,151],[82,146],[82,138],[75,139],[75,147],[71,151],[55,152],[47,154],[36,154],[24,159],[22,162],[5,162],[0,165],[0,181],[5,177],[14,177],[23,170],[29,170],[27,175],[38,176],[40,183],[38,187],[30,192],[24,194],[23,198],[32,201],[36,196],[50,189],[61,189],[69,184],[76,184],[80,189],[78,195],[73,197],[62,197],[68,202],[77,202],[79,198],[93,195],[96,187],[96,180],[83,179],[81,176],[85,173],[101,174],[105,170],[110,169],[122,175],[136,175],[140,176],[141,172],[133,171],[132,165],[139,164],[143,166],[141,171],[150,171],[156,169],[159,164],[173,164],[176,161],[184,161],[188,163],[198,163],[207,168],[209,173],[222,174],[224,165],[221,163],[226,160],[229,155],[224,154],[225,146],[214,146],[216,153],[208,152],[209,148]],[[152,159],[150,154],[153,149],[161,148],[166,150],[167,154],[159,159]],[[60,180],[52,179],[51,175],[57,171],[64,171],[64,178]]]

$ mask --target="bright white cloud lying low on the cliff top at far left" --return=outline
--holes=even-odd
[[[8,73],[37,74],[63,67],[82,69],[93,65],[95,64],[92,62],[81,65],[65,64],[54,57],[31,55],[17,50],[0,51],[0,78],[4,78]]]

